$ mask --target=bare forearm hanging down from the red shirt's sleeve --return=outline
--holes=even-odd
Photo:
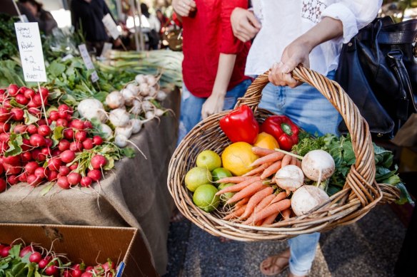
[[[224,96],[227,92],[228,83],[233,73],[234,63],[236,61],[236,54],[220,53],[218,57],[218,68],[216,80],[213,85],[213,95]]]

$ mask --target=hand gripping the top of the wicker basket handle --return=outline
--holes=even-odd
[[[281,62],[273,64],[268,75],[269,81],[274,85],[288,85],[290,88],[301,85],[301,82],[292,78],[291,71],[300,63],[306,68],[310,66],[308,58],[310,51],[311,47],[308,46],[308,43],[301,40],[290,43],[282,53]]]

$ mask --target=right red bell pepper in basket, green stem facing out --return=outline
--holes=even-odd
[[[272,115],[262,123],[261,132],[275,137],[282,150],[291,151],[298,143],[299,128],[285,115]]]

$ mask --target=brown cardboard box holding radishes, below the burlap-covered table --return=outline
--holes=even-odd
[[[105,263],[107,258],[119,261],[116,276],[158,276],[144,240],[136,228],[69,226],[42,224],[0,224],[0,241],[10,244],[15,239],[34,242],[49,249],[54,241],[56,253],[67,254],[75,263]]]

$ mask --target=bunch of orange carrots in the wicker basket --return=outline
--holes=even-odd
[[[246,225],[266,226],[272,224],[278,216],[282,219],[291,217],[291,200],[288,194],[274,186],[273,175],[281,167],[294,164],[301,167],[301,162],[291,155],[261,147],[252,147],[254,154],[260,156],[251,164],[256,167],[238,177],[227,177],[218,180],[221,183],[233,183],[231,187],[221,189],[216,195],[235,192],[226,204],[235,203],[225,220],[241,221]],[[267,179],[272,177],[271,179]]]

